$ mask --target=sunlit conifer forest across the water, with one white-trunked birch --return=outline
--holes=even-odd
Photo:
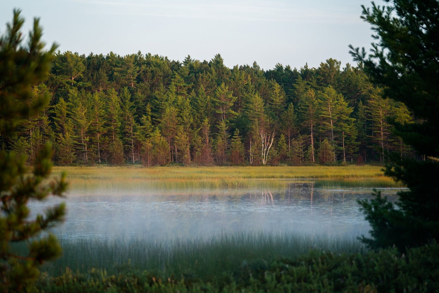
[[[50,106],[3,147],[31,163],[46,140],[59,165],[301,165],[414,156],[387,118],[410,123],[402,103],[382,99],[362,64],[264,71],[187,56],[88,56],[58,51]]]

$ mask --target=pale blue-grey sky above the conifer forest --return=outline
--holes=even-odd
[[[381,0],[375,1],[382,4]],[[89,55],[141,51],[183,61],[211,60],[264,70],[277,63],[300,69],[333,58],[355,64],[349,44],[371,48],[370,25],[360,19],[368,0],[2,0],[0,33],[22,10],[23,32],[40,18],[43,40]]]

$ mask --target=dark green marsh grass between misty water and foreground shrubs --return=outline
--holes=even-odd
[[[224,234],[209,240],[155,242],[144,239],[61,239],[63,256],[42,271],[60,275],[68,267],[87,272],[105,268],[108,274],[124,268],[151,271],[163,278],[212,278],[254,261],[299,256],[309,249],[356,253],[364,246],[349,237],[266,233]]]

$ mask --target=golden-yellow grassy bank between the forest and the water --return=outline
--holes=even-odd
[[[66,171],[71,190],[191,190],[286,187],[403,187],[379,166],[266,167],[55,167]]]

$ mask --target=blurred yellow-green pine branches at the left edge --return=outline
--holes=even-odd
[[[0,37],[0,139],[8,143],[15,128],[24,119],[34,117],[46,108],[47,92],[33,95],[32,86],[47,77],[53,60],[55,45],[43,51],[44,43],[39,22],[34,21],[28,47],[21,46],[20,32],[24,20],[20,11],[7,25]],[[31,140],[32,142],[32,140]],[[21,140],[18,143],[25,144]],[[17,157],[14,151],[0,150],[0,291],[21,292],[35,289],[33,282],[39,276],[38,267],[47,260],[61,255],[61,247],[52,234],[39,237],[42,232],[64,220],[65,204],[55,205],[30,219],[30,200],[42,201],[49,195],[62,196],[65,174],[60,180],[49,179],[52,149],[46,143],[34,154],[33,168],[25,165],[26,157]],[[25,253],[17,253],[13,244],[27,242]]]

